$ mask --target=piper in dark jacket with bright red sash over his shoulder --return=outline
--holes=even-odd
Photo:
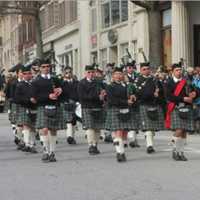
[[[166,85],[166,97],[168,104],[165,126],[175,132],[172,158],[176,161],[187,161],[184,146],[187,132],[194,131],[192,104],[196,92],[183,78],[180,63],[172,65],[172,77]]]

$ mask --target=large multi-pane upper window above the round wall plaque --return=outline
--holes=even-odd
[[[128,20],[128,0],[104,0],[101,5],[102,27]]]

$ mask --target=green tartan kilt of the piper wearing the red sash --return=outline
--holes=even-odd
[[[188,115],[188,119],[181,119],[179,117],[178,108],[176,107],[171,113],[171,130],[184,129],[185,131],[194,131],[193,111]]]

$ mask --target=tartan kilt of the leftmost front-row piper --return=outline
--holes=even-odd
[[[17,125],[27,125],[29,127],[35,127],[35,120],[31,119],[31,117],[27,113],[27,108],[17,105],[18,112],[17,112]]]

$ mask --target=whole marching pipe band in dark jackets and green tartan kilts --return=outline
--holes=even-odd
[[[81,121],[90,155],[100,153],[100,132],[107,130],[118,162],[125,162],[129,135],[131,147],[139,147],[137,134],[145,133],[146,151],[155,152],[155,132],[172,130],[172,158],[187,161],[184,146],[188,132],[200,121],[200,67],[192,78],[183,75],[180,63],[160,78],[149,63],[135,69],[135,61],[124,68],[113,67],[111,82],[94,65],[85,66],[80,81],[66,67],[63,77],[52,76],[48,60],[28,66],[18,64],[5,94],[10,103],[9,119],[18,150],[37,153],[35,135],[43,145],[43,162],[56,162],[57,131],[66,130],[67,142],[76,144],[74,127]],[[81,105],[81,110],[80,110]],[[78,111],[76,110],[78,108]],[[160,132],[159,134],[162,134]]]

